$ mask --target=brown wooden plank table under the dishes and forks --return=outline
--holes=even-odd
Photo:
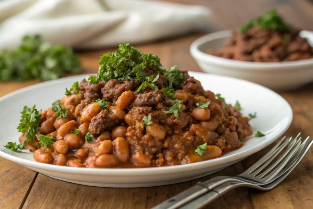
[[[235,29],[248,18],[277,8],[286,20],[303,29],[313,30],[313,4],[309,0],[172,0],[186,4],[202,4],[213,10],[212,31]],[[158,55],[166,67],[177,64],[180,69],[200,71],[189,54],[193,40],[203,34],[191,34],[176,39],[137,45],[138,49]],[[95,73],[100,55],[115,49],[80,52],[86,73]],[[0,83],[0,96],[35,81]],[[290,103],[294,119],[286,132],[295,136],[313,136],[313,84],[299,90],[280,92]],[[0,208],[151,208],[198,181],[217,175],[236,175],[247,169],[270,149],[261,150],[242,162],[213,175],[185,183],[150,188],[98,188],[55,180],[0,158]],[[313,149],[290,176],[269,192],[238,188],[214,201],[214,209],[313,208]]]

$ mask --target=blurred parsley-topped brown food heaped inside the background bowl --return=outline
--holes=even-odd
[[[313,48],[299,29],[284,23],[275,10],[254,18],[223,43],[219,50],[209,49],[210,55],[252,62],[281,62],[313,58]]]

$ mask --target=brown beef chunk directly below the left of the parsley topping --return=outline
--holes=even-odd
[[[108,81],[105,86],[101,89],[103,98],[107,101],[115,103],[117,98],[121,96],[124,91],[129,91],[134,87],[134,81],[122,81],[112,79]]]

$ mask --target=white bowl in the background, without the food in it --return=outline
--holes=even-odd
[[[190,53],[200,68],[208,73],[240,78],[266,86],[273,90],[287,90],[313,81],[313,59],[288,62],[248,62],[208,55],[208,49],[219,49],[231,31],[208,34],[195,40]],[[309,31],[301,36],[313,42]]]

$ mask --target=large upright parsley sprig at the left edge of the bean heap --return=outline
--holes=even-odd
[[[19,132],[26,132],[26,144],[28,144],[28,141],[36,138],[35,133],[37,133],[40,129],[38,126],[41,117],[40,112],[41,110],[38,111],[36,109],[36,105],[34,105],[32,108],[24,106],[23,111],[21,112],[22,118],[17,129]]]

